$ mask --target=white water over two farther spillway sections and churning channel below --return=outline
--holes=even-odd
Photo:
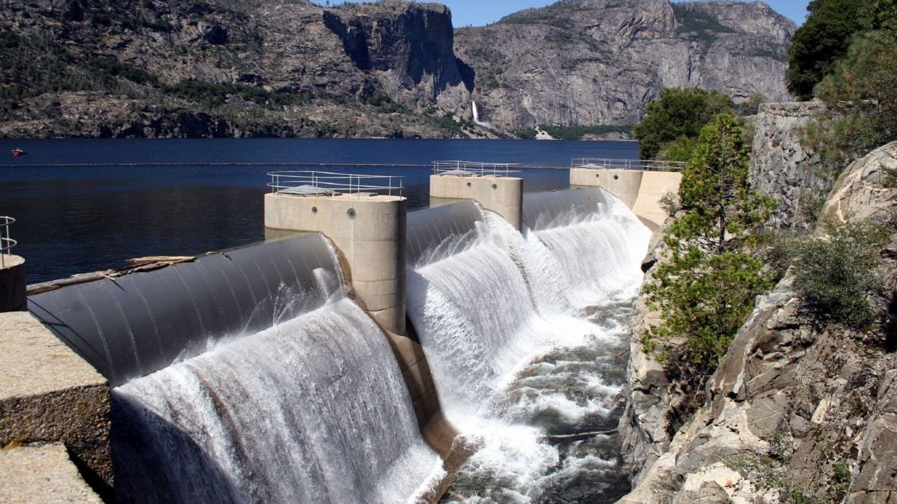
[[[650,233],[600,190],[527,196],[524,221],[481,214],[410,258],[409,317],[443,410],[479,447],[449,500],[612,499],[617,450],[596,433],[621,411]]]

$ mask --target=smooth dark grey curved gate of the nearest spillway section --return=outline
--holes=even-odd
[[[28,309],[115,387],[319,308],[338,288],[327,239],[309,234],[35,294]]]

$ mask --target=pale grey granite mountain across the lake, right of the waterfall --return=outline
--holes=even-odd
[[[794,23],[762,3],[580,0],[457,30],[481,116],[507,129],[635,124],[670,86],[788,100]]]

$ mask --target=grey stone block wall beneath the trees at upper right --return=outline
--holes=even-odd
[[[764,103],[753,123],[751,185],[776,200],[770,224],[781,230],[802,231],[812,224],[812,208],[832,188],[831,170],[801,139],[800,128],[825,111],[819,101]]]

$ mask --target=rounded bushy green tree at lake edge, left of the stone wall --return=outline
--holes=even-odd
[[[639,156],[654,159],[666,143],[697,138],[701,128],[721,112],[730,112],[735,104],[725,94],[700,88],[666,88],[657,100],[648,104],[647,114],[635,126]]]

